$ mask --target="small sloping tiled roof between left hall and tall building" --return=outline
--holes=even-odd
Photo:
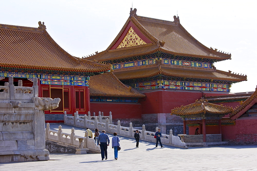
[[[112,72],[91,76],[90,96],[144,98],[135,88],[125,86]]]

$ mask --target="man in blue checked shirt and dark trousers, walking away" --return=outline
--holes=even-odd
[[[109,146],[110,140],[108,135],[105,133],[105,130],[103,130],[102,134],[98,136],[97,144],[100,145],[102,160],[104,160],[104,156],[107,160],[107,146]]]

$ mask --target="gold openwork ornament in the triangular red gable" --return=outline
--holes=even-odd
[[[128,30],[128,33],[122,40],[121,44],[117,47],[118,48],[124,48],[124,47],[131,47],[131,46],[137,46],[137,45],[144,45],[146,44],[130,27]]]

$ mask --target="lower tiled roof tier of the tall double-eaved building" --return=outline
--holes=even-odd
[[[168,64],[137,66],[126,69],[115,69],[115,76],[120,80],[144,78],[157,76],[163,74],[170,77],[186,77],[195,79],[215,79],[232,82],[240,82],[246,80],[246,76],[232,74],[225,71],[195,68],[195,67],[181,67]]]

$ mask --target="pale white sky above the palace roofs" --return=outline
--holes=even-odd
[[[214,63],[218,70],[247,75],[231,92],[255,91],[257,85],[257,1],[133,1],[137,15],[180,24],[207,47],[229,52],[232,60]],[[129,17],[132,1],[0,0],[0,23],[38,27],[71,55],[105,50]],[[1,48],[1,47],[0,47]],[[53,61],[56,62],[56,61]]]

